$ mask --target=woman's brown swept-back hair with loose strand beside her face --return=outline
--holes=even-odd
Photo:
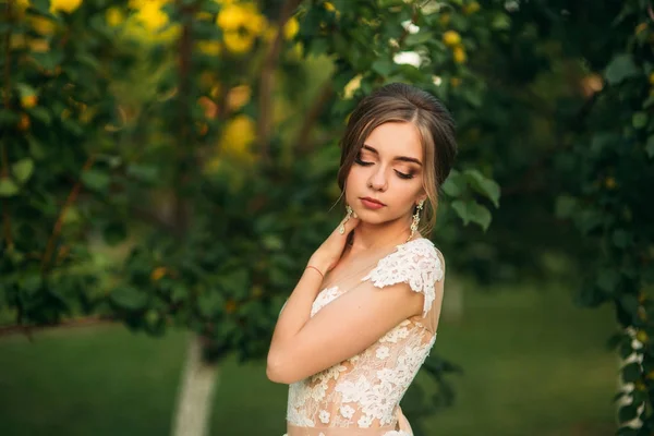
[[[391,83],[364,97],[348,121],[341,140],[338,184],[346,179],[363,142],[377,126],[387,122],[412,122],[417,128],[423,146],[423,187],[428,202],[421,217],[421,233],[431,234],[436,225],[438,190],[449,175],[457,141],[455,121],[447,108],[429,93],[403,83]]]

